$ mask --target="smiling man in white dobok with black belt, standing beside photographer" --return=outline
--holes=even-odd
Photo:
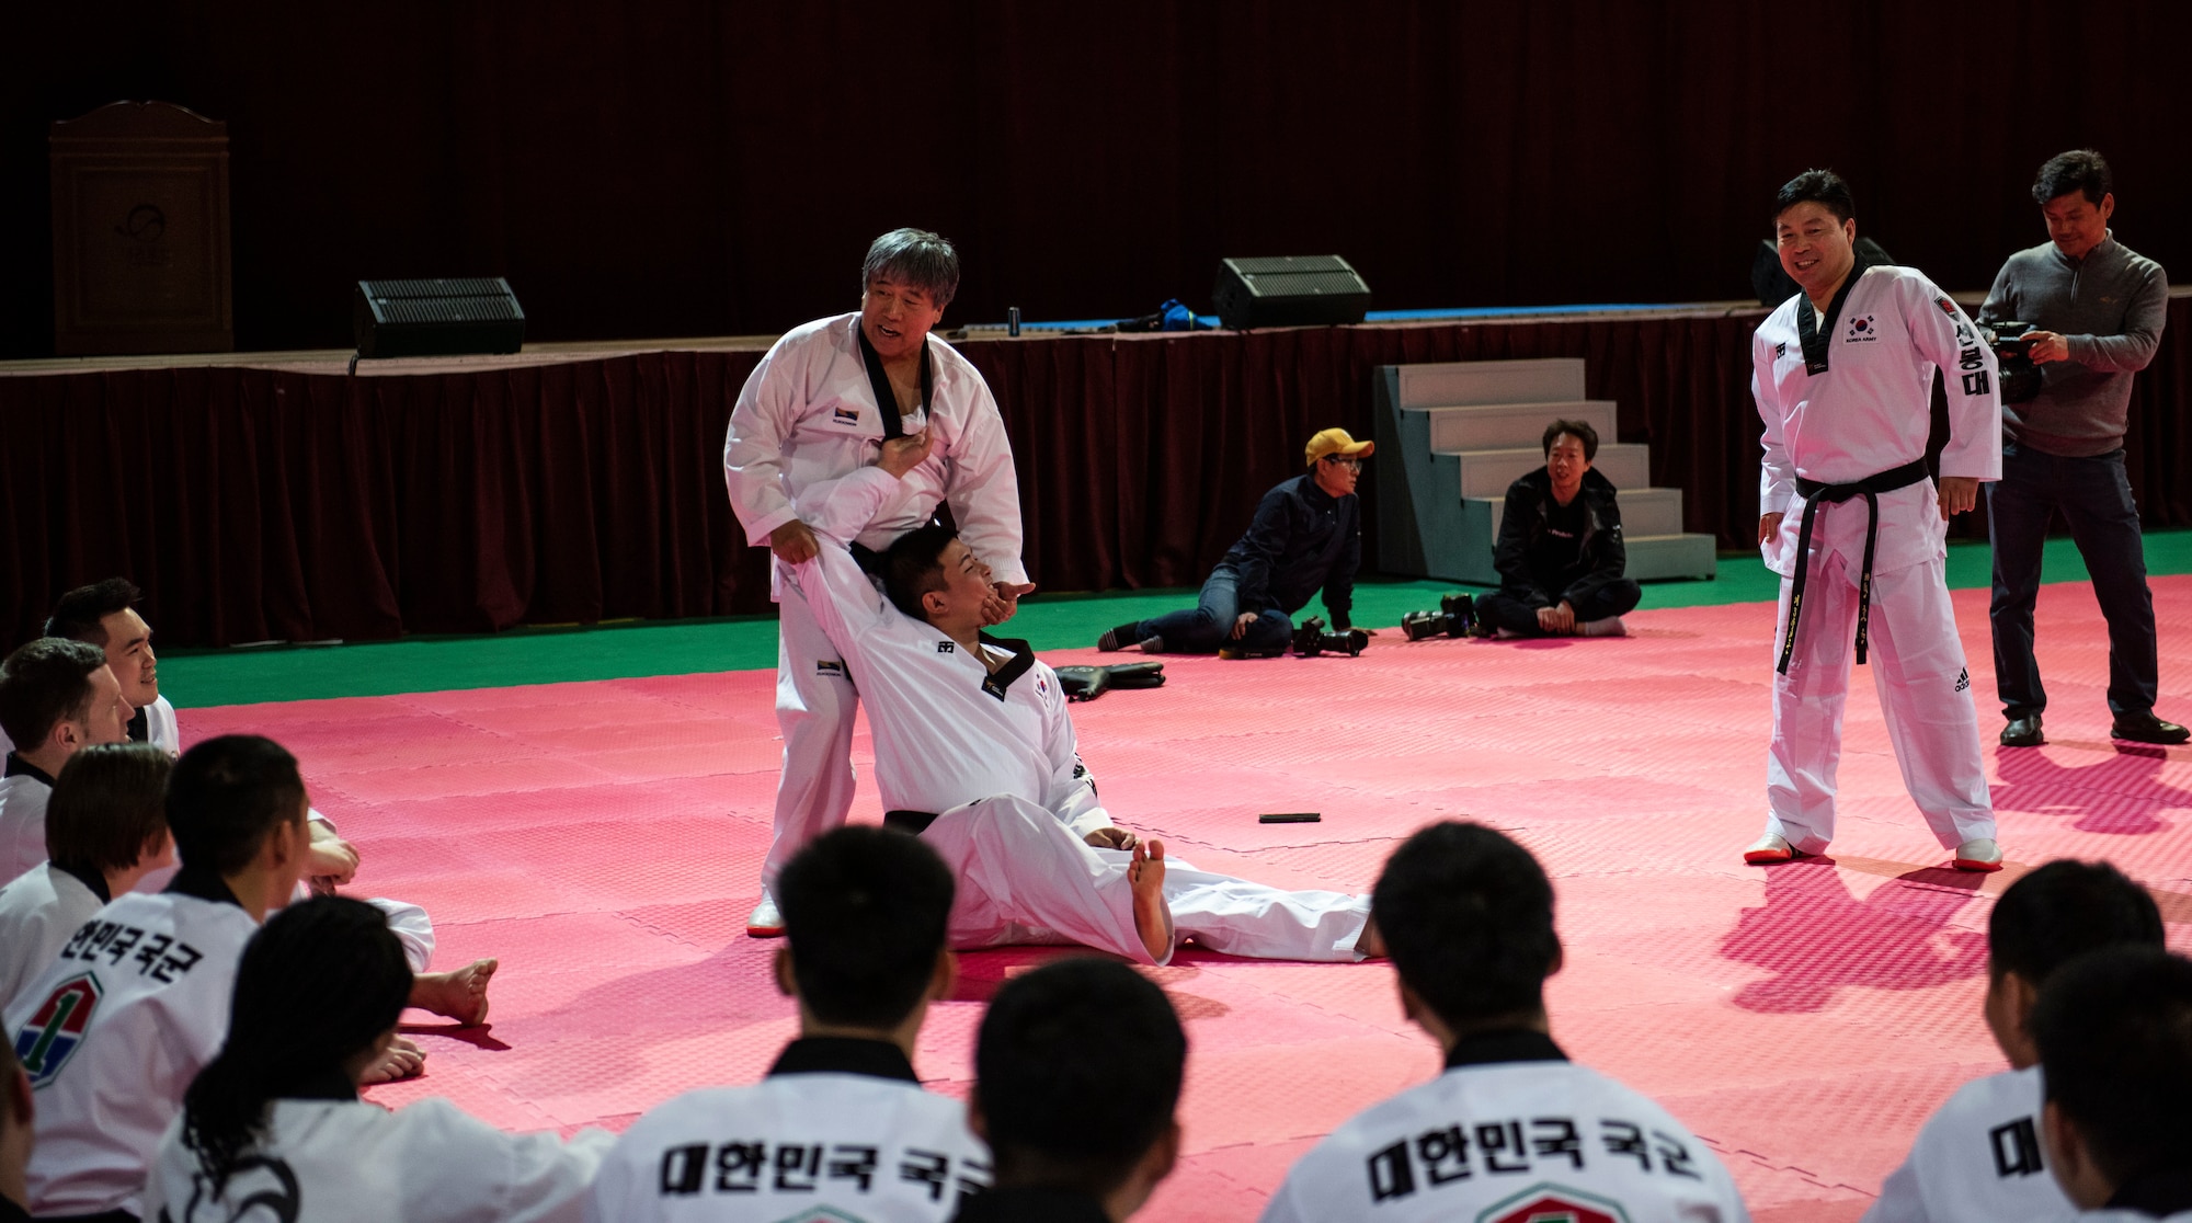
[[[1944,568],[1949,515],[2001,478],[1995,355],[1922,274],[1861,261],[1852,213],[1833,171],[1780,188],[1773,230],[1802,292],[1751,338],[1758,546],[1782,594],[1767,828],[1743,861],[1826,853],[1835,839],[1854,629],[1857,662],[1879,638],[1872,686],[1918,811],[1957,870],[2001,870]],[[1938,491],[1925,467],[1936,368],[1949,388]]]

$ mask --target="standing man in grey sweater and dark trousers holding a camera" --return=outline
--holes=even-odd
[[[2001,265],[1979,307],[1982,324],[2019,320],[2030,331],[1997,342],[2003,353],[2001,482],[1986,489],[1995,544],[1995,688],[2003,747],[2039,747],[2047,693],[2032,658],[2032,605],[2041,587],[2047,517],[2063,513],[2093,574],[2109,620],[2111,734],[2135,743],[2183,743],[2185,728],[2155,717],[2155,598],[2146,590],[2139,508],[2124,478],[2131,379],[2155,357],[2168,309],[2168,276],[2109,230],[2115,215],[2109,162],[2091,149],[2047,160],[2032,199],[2047,219],[2041,245]],[[2012,331],[2001,327],[1999,333]],[[2014,401],[2014,348],[2039,368]]]

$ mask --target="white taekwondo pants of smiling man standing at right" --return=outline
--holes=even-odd
[[[1863,508],[1863,506],[1859,506]],[[1767,752],[1767,833],[1802,853],[1835,839],[1835,767],[1850,695],[1861,561],[1815,548],[1789,673],[1773,677],[1773,747]],[[1791,579],[1782,579],[1773,658],[1789,627]],[[1955,636],[1946,561],[1933,557],[1872,572],[1865,666],[1881,697],[1903,787],[1946,848],[1995,837],[1995,804],[1979,756],[1964,642]]]

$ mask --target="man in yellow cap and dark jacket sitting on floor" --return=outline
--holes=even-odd
[[[1346,430],[1309,438],[1309,471],[1263,495],[1247,535],[1210,570],[1195,607],[1109,629],[1096,649],[1276,658],[1293,638],[1289,616],[1320,587],[1331,629],[1348,631],[1363,559],[1355,480],[1372,449]]]

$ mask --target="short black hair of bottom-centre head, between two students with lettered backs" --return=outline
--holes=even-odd
[[[973,1098],[997,1179],[1103,1197],[1179,1105],[1188,1035],[1164,991],[1118,960],[1074,956],[1013,978],[982,1015]]]

